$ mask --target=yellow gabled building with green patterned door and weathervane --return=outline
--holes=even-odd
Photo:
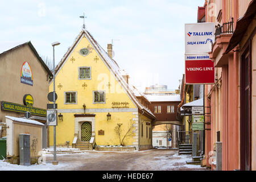
[[[57,146],[69,141],[73,147],[89,150],[95,144],[122,143],[137,150],[152,147],[149,136],[155,116],[148,109],[148,101],[139,100],[139,93],[128,84],[129,76],[112,59],[112,44],[105,52],[83,29],[55,73],[57,111],[63,115],[56,126]],[[53,82],[49,92],[52,90]],[[49,136],[52,146],[53,127]]]

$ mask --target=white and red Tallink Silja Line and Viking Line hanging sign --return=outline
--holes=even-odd
[[[185,82],[186,84],[213,84],[214,63],[212,51],[214,23],[185,24]]]

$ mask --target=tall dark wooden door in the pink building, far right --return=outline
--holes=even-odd
[[[250,46],[241,57],[241,170],[251,170],[251,54]]]

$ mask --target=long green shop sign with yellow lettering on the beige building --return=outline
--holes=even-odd
[[[46,117],[46,109],[40,109],[37,107],[29,107],[12,102],[1,101],[1,110],[14,111],[18,113],[26,113],[29,111],[32,115],[39,115]]]

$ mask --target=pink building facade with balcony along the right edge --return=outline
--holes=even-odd
[[[205,0],[205,22],[216,24],[209,52],[214,85],[205,85],[205,163],[222,170],[256,170],[256,0]],[[220,160],[220,159],[218,159]],[[220,163],[218,163],[220,165]]]

